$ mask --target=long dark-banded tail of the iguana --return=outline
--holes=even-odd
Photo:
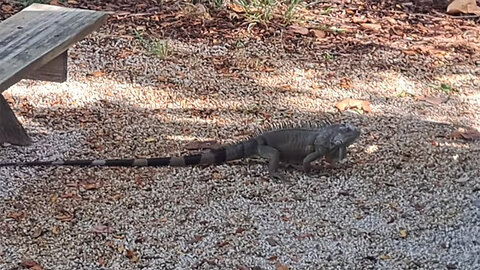
[[[164,167],[221,164],[227,161],[250,157],[257,153],[258,139],[227,145],[196,155],[179,157],[158,157],[146,159],[89,159],[89,160],[57,160],[0,163],[0,167],[8,166],[107,166],[107,167]]]

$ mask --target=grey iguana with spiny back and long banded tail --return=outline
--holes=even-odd
[[[242,142],[200,154],[147,159],[58,160],[0,163],[5,166],[189,166],[221,164],[258,155],[269,160],[268,172],[278,177],[280,162],[302,164],[305,172],[311,162],[322,157],[332,164],[346,157],[347,147],[360,136],[351,124],[323,123],[304,127],[281,127]]]

